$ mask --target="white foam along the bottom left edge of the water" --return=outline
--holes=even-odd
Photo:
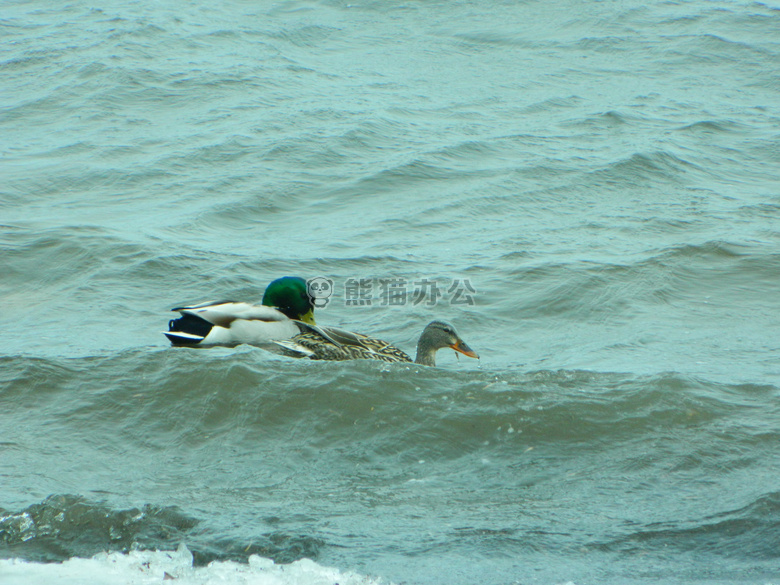
[[[256,555],[249,564],[214,561],[192,566],[192,554],[177,551],[102,553],[62,563],[0,560],[3,585],[382,585],[380,579],[323,567],[302,559],[277,565]]]

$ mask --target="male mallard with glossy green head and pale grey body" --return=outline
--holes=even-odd
[[[222,301],[173,310],[182,315],[164,332],[173,345],[267,345],[300,334],[298,321],[316,326],[306,281],[297,276],[269,284],[262,306]]]

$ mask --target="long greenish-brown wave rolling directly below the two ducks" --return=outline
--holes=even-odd
[[[379,452],[421,448],[458,457],[500,439],[561,445],[696,430],[720,443],[723,424],[775,396],[771,385],[675,373],[580,370],[457,371],[379,362],[291,361],[244,348],[133,350],[117,356],[0,358],[3,408],[34,403],[49,425],[108,428],[137,448],[214,448],[285,442],[335,447],[356,434]],[[45,400],[44,400],[45,397]],[[770,416],[767,409],[756,424]],[[575,417],[576,426],[567,424]],[[718,422],[719,421],[719,422]],[[716,424],[717,423],[717,424]],[[517,432],[512,437],[508,429]],[[729,426],[735,444],[755,437]],[[522,434],[522,439],[520,435]],[[769,432],[761,441],[769,441]],[[763,444],[763,443],[762,443]]]

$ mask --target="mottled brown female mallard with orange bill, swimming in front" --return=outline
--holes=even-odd
[[[289,340],[278,340],[275,344],[287,355],[314,360],[412,361],[406,353],[386,341],[334,327],[303,325],[299,335]],[[477,352],[460,338],[452,325],[432,321],[420,335],[414,362],[423,366],[435,366],[436,352],[445,347],[451,347],[469,357],[479,358]]]

